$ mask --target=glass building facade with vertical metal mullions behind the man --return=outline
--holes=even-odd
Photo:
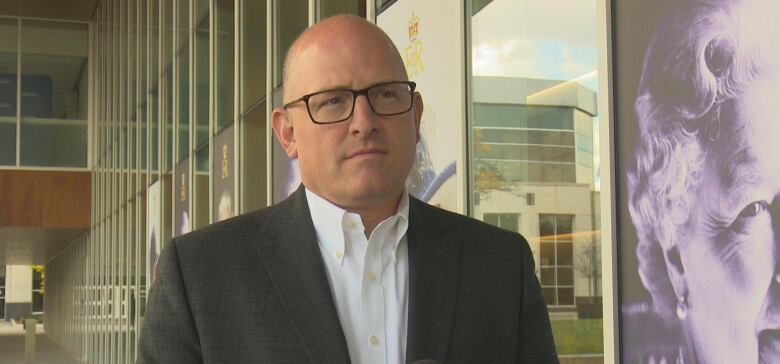
[[[92,172],[91,227],[46,264],[46,331],[87,362],[134,362],[165,242],[277,200],[269,115],[287,48],[319,19],[376,20],[402,3],[100,0],[89,23],[0,19],[0,165]],[[609,362],[605,4],[552,3],[457,2],[468,16],[458,20],[464,122],[452,126],[464,135],[465,188],[454,195],[457,212],[528,238],[562,361]],[[36,40],[52,33],[78,46]]]

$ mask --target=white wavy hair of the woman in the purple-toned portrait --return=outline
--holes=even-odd
[[[666,317],[677,298],[664,251],[678,243],[695,208],[703,161],[722,123],[734,122],[721,118],[721,111],[762,72],[780,67],[779,1],[689,0],[670,14],[645,55],[634,105],[636,164],[628,166],[639,275]]]

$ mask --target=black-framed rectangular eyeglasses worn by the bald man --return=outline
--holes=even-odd
[[[371,110],[379,116],[392,116],[412,109],[414,88],[411,81],[382,82],[360,90],[336,89],[315,92],[284,104],[287,109],[303,101],[315,124],[333,124],[352,117],[355,99],[365,95]]]

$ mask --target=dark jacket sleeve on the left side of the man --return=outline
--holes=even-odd
[[[202,363],[198,333],[181,274],[176,240],[163,250],[149,289],[138,363]]]

